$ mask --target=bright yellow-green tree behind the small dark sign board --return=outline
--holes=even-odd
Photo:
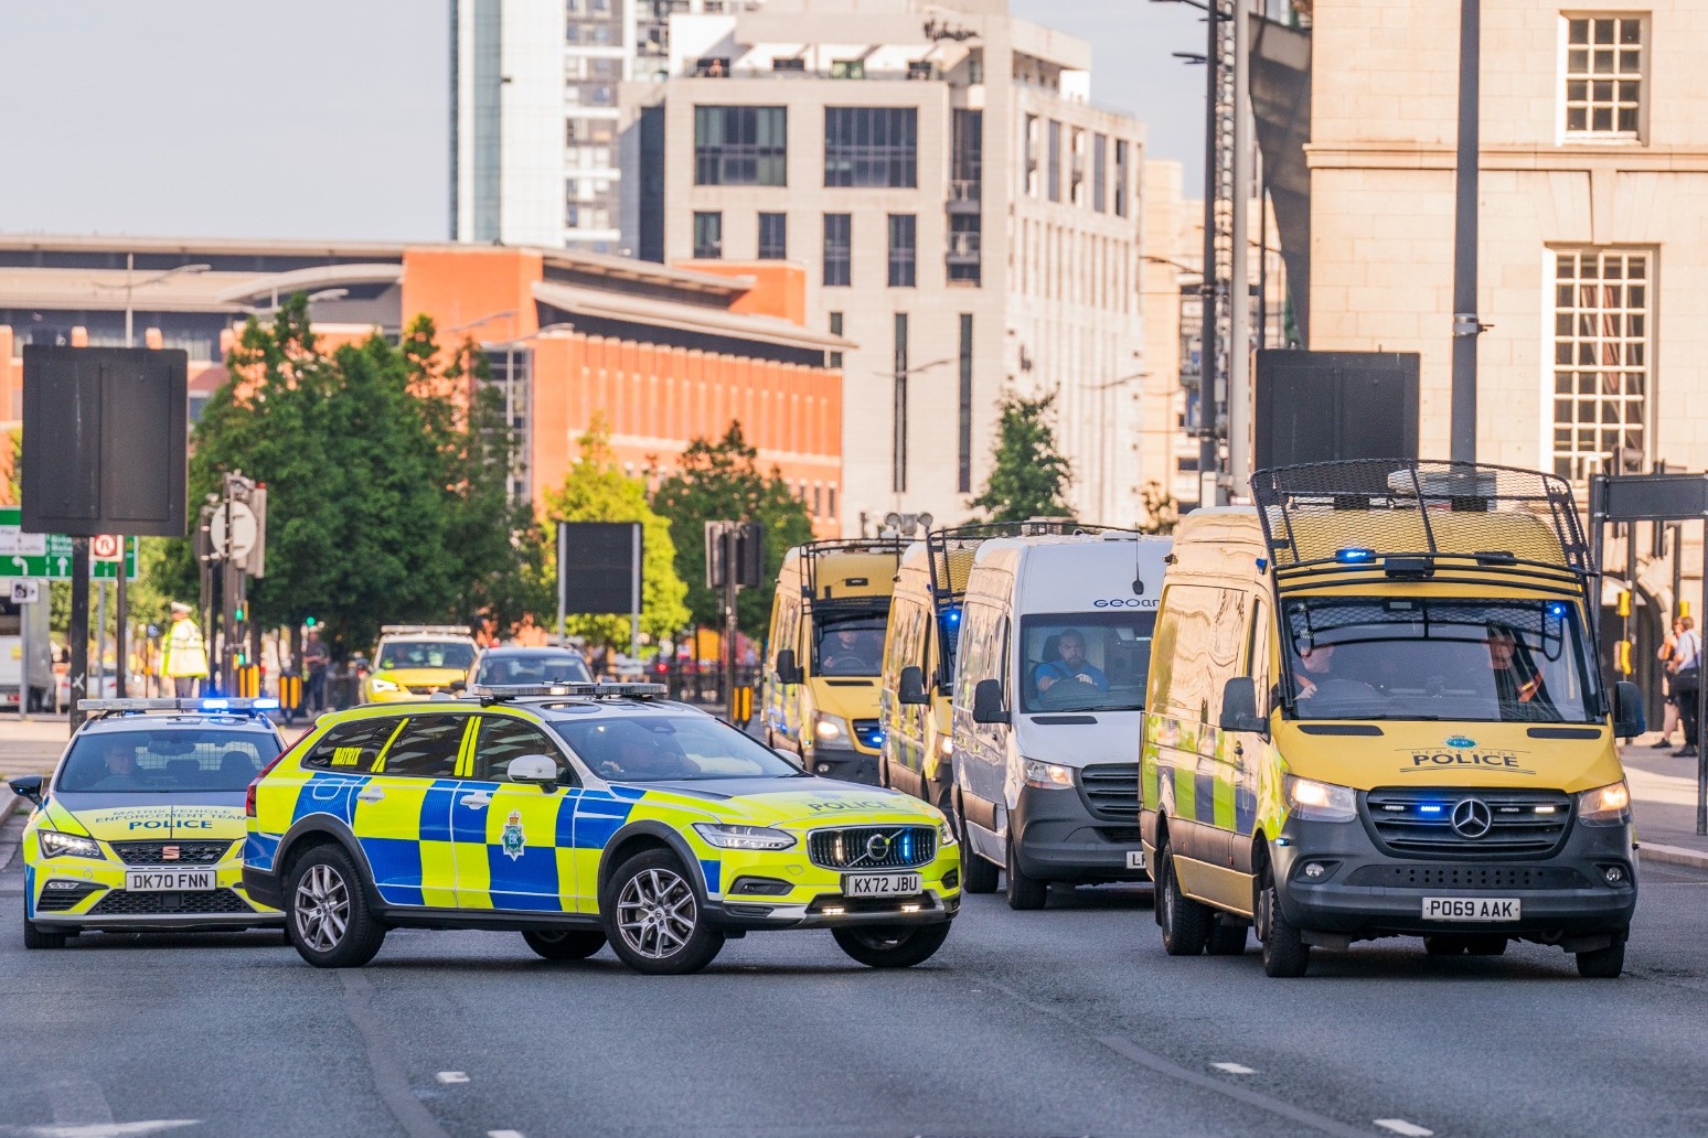
[[[545,491],[548,580],[557,573],[557,522],[640,522],[640,631],[652,638],[675,636],[688,623],[688,609],[681,602],[687,589],[676,577],[670,524],[647,505],[646,485],[617,466],[603,416],[594,415],[579,447],[581,456],[564,474],[562,488]],[[627,647],[629,618],[570,616],[569,633]]]

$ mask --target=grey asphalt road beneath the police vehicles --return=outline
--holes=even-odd
[[[910,973],[820,932],[671,979],[475,932],[395,932],[369,967],[326,973],[263,933],[24,952],[20,889],[14,860],[3,1136],[1708,1131],[1708,877],[1682,870],[1647,870],[1619,981],[1551,949],[1416,942],[1272,981],[1255,950],[1163,955],[1131,887],[1042,913],[968,897]]]

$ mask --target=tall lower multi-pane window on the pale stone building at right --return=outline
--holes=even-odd
[[[1554,253],[1554,473],[1641,471],[1648,454],[1648,253]]]

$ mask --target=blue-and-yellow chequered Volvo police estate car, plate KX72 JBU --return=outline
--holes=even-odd
[[[244,884],[309,964],[388,928],[521,932],[548,959],[606,943],[693,973],[729,937],[830,928],[873,967],[926,961],[960,848],[907,795],[815,778],[658,684],[477,688],[323,717],[249,793]]]

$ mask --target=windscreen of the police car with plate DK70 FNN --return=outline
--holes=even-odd
[[[260,730],[145,729],[79,735],[55,788],[63,793],[241,792],[278,754]]]

